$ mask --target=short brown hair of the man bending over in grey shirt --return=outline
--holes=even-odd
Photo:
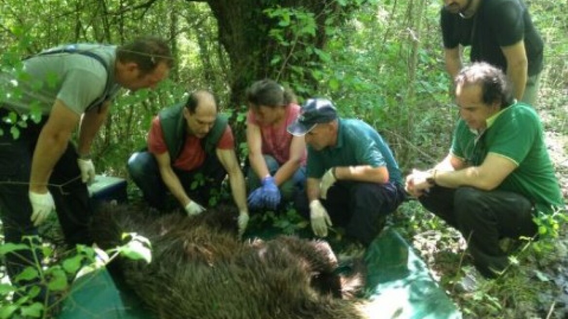
[[[120,62],[135,62],[143,74],[151,73],[161,62],[172,68],[174,59],[166,40],[155,36],[139,37],[116,48]]]

